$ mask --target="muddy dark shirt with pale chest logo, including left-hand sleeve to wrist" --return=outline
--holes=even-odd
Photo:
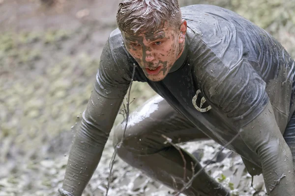
[[[186,44],[170,73],[153,82],[137,66],[134,80],[147,82],[221,145],[253,122],[268,103],[283,134],[295,111],[295,62],[288,52],[265,30],[227,9],[191,5],[181,12],[187,21]],[[120,31],[114,30],[103,49],[94,90],[71,148],[63,188],[75,196],[82,194],[97,167],[134,64]],[[262,167],[261,156],[243,138],[229,148]]]

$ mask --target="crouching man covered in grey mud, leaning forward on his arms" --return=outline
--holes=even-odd
[[[239,133],[228,148],[241,155],[248,172],[263,173],[270,196],[295,196],[295,62],[278,41],[230,10],[179,8],[177,0],[122,0],[117,22],[101,54],[61,195],[82,195],[133,78],[159,96],[130,115],[125,134],[125,123],[114,130],[114,147],[125,162],[180,189],[183,174],[190,178],[202,166],[167,138],[211,138],[224,146]],[[230,195],[205,171],[183,193]]]

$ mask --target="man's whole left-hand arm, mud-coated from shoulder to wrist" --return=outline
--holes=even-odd
[[[113,34],[101,54],[94,88],[70,149],[63,185],[59,189],[62,196],[82,195],[100,161],[130,84],[132,66],[121,48],[119,34],[116,31]]]

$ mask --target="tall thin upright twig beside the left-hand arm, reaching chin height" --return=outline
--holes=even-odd
[[[110,162],[110,173],[109,173],[109,179],[108,179],[108,186],[107,186],[107,189],[106,189],[106,195],[105,196],[108,196],[108,193],[109,193],[109,189],[110,189],[110,184],[111,184],[111,177],[112,177],[112,171],[113,171],[113,167],[114,167],[114,163],[115,163],[115,159],[116,159],[116,156],[117,156],[117,149],[119,147],[121,147],[121,145],[123,144],[123,140],[124,140],[124,137],[125,137],[125,133],[126,133],[126,129],[127,129],[127,123],[128,123],[128,119],[129,119],[129,105],[130,105],[130,92],[131,92],[131,87],[132,87],[132,82],[133,82],[133,79],[134,79],[134,75],[135,75],[135,68],[136,68],[136,65],[133,64],[133,72],[132,72],[132,77],[131,77],[131,81],[130,81],[130,87],[129,87],[129,93],[128,93],[128,97],[126,98],[126,107],[124,105],[124,112],[126,114],[126,124],[125,124],[125,128],[124,128],[124,133],[123,133],[123,137],[121,138],[121,141],[120,143],[115,147],[115,151],[113,153],[113,156],[112,156],[112,159],[111,159],[111,162]]]

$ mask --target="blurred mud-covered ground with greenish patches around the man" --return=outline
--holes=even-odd
[[[102,47],[116,28],[119,0],[0,0],[0,196],[56,196],[68,151],[88,101]],[[265,28],[295,57],[295,0],[179,0],[236,11]],[[133,111],[155,95],[134,83]],[[115,124],[120,123],[118,115]],[[103,196],[112,134],[84,196]],[[206,164],[220,149],[208,140],[182,144]],[[233,193],[264,190],[239,156],[224,150],[206,170]],[[219,162],[221,161],[221,162]],[[110,196],[169,196],[170,189],[116,159]],[[170,194],[172,195],[172,194]],[[260,196],[263,196],[263,192]]]

